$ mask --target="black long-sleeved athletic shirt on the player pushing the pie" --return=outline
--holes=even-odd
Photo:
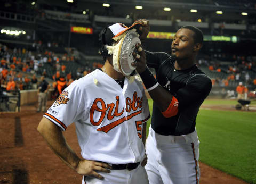
[[[212,82],[196,65],[175,70],[171,56],[146,51],[147,65],[156,70],[158,83],[178,99],[178,114],[165,118],[153,103],[151,127],[161,135],[185,135],[195,130],[199,107],[212,89]]]

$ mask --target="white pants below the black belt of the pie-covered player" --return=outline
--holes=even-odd
[[[104,177],[103,180],[86,177],[82,184],[148,184],[148,176],[145,168],[139,165],[136,169],[128,171],[127,169],[122,170],[110,170],[110,173],[98,172]]]

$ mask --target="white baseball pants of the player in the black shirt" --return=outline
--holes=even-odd
[[[146,141],[150,184],[199,183],[199,140],[196,130],[182,136],[162,136],[150,126]]]

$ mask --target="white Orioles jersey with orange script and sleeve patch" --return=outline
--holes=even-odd
[[[123,89],[99,69],[69,85],[44,117],[63,131],[76,124],[78,143],[87,160],[111,164],[143,160],[142,123],[150,118],[147,97],[137,80]]]

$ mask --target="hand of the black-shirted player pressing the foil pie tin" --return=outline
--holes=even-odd
[[[137,62],[132,63],[132,66],[136,68],[136,71],[140,74],[146,70],[146,53],[140,43],[136,44],[137,52],[133,52],[132,55],[136,58]]]

